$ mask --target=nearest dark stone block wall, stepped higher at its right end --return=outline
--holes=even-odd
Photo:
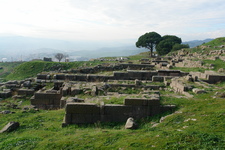
[[[95,122],[125,122],[129,117],[141,119],[157,115],[172,107],[161,107],[159,99],[125,99],[124,105],[67,103],[63,125]]]

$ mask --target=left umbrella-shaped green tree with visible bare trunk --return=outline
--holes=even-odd
[[[136,42],[136,47],[138,48],[144,47],[149,49],[150,56],[152,57],[153,49],[161,41],[161,39],[162,39],[161,35],[156,32],[145,33],[144,35],[138,38],[138,41]]]

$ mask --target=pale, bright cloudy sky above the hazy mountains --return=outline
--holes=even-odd
[[[224,0],[0,0],[0,36],[119,41],[225,36]]]

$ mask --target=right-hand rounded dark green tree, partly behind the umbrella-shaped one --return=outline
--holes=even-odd
[[[180,45],[181,42],[182,42],[181,38],[179,38],[175,35],[165,35],[162,37],[162,40],[156,46],[156,51],[159,55],[168,54],[170,51],[172,51],[173,46],[175,44]]]

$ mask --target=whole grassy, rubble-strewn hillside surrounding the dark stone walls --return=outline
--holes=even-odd
[[[164,82],[157,81],[163,76],[158,75],[158,78],[154,78],[156,81],[140,80],[140,87],[119,87],[118,89],[110,89],[108,91],[109,95],[97,96],[88,95],[87,93],[90,91],[91,86],[87,86],[89,84],[97,86],[103,82],[71,82],[71,84],[80,85],[80,87],[87,89],[86,93],[83,92],[76,95],[76,97],[88,99],[88,102],[91,103],[100,104],[98,100],[103,99],[105,103],[110,105],[120,104],[123,103],[126,96],[140,98],[155,92],[160,93],[160,105],[176,105],[175,110],[136,120],[138,124],[136,130],[124,129],[125,122],[69,124],[62,128],[63,117],[66,114],[64,108],[58,110],[29,109],[31,96],[2,99],[0,100],[0,112],[9,110],[14,113],[0,113],[0,129],[10,121],[20,122],[20,127],[12,132],[0,133],[0,149],[225,149],[225,82],[222,80],[209,83],[209,80],[203,77],[194,77],[194,74],[203,76],[205,71],[217,73],[216,79],[224,76],[224,54],[218,55],[217,53],[218,50],[224,49],[222,45],[225,45],[225,38],[218,38],[198,47],[173,52],[169,54],[170,57],[164,57],[160,60],[149,58],[148,53],[145,52],[129,56],[129,59],[123,60],[122,63],[116,61],[114,57],[88,62],[56,63],[34,61],[22,63],[16,66],[6,79],[36,77],[36,74],[41,72],[61,75],[63,72],[68,73],[71,69],[80,71],[82,68],[87,69],[91,67],[100,68],[97,74],[105,77],[108,75],[112,76],[117,71],[104,71],[101,70],[101,67],[118,68],[116,65],[119,64],[142,65],[138,71],[143,74],[146,72],[154,72],[156,74],[160,70],[162,72],[165,70],[168,72],[172,71],[172,74],[179,72],[177,70],[184,71],[179,72],[180,74],[191,71],[194,73],[175,78],[169,78],[168,76],[170,75],[167,74],[166,77],[163,77],[168,78]],[[154,64],[154,67],[146,69],[141,62],[146,65],[149,65],[148,63],[151,62],[151,64]],[[171,66],[172,62],[175,65]],[[179,65],[183,66],[179,67]],[[218,70],[222,71],[218,72]],[[128,75],[129,71],[131,75],[138,73],[138,71],[135,72],[130,67],[119,71],[121,74],[128,72]],[[191,77],[191,75],[193,76]],[[210,75],[212,76],[212,74],[208,76]],[[136,75],[136,77],[138,76]],[[215,81],[217,81],[216,79]],[[184,86],[183,89],[186,89],[186,91],[179,93],[174,89],[171,83],[176,80],[176,84],[183,83],[180,86]],[[67,82],[69,83],[69,81],[65,83]],[[131,85],[133,82],[137,83],[137,81],[131,80],[112,80],[108,81],[107,84]],[[53,83],[50,81],[41,83],[46,84],[45,88],[47,90],[53,86]],[[146,87],[149,85],[161,86],[161,88],[158,90],[147,89]],[[201,89],[202,91],[196,93],[193,89]],[[17,105],[18,108],[11,107],[14,105]],[[122,114],[118,116],[120,115]]]

